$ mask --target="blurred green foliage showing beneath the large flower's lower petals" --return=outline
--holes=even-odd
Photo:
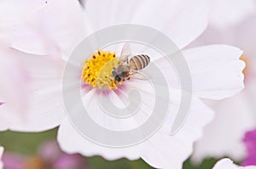
[[[57,128],[47,132],[0,132],[0,143],[5,151],[16,152],[23,155],[36,155],[40,144],[56,138]],[[84,158],[90,169],[152,169],[143,160],[129,161],[120,159],[118,161],[106,161],[100,156]],[[190,160],[186,161],[183,169],[212,169],[216,159],[207,159],[200,166],[195,166]]]

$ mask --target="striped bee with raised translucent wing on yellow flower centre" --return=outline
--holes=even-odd
[[[143,70],[148,66],[150,58],[147,54],[138,54],[132,56],[131,48],[128,44],[125,44],[122,48],[119,63],[116,67],[113,67],[112,76],[115,82],[124,82],[130,80],[132,74],[136,74],[139,70]]]

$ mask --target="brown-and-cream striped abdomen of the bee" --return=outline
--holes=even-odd
[[[142,70],[149,64],[149,62],[150,62],[150,59],[146,54],[139,54],[139,55],[133,56],[129,61],[130,69]]]

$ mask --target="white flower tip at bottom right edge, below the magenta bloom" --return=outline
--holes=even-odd
[[[255,169],[256,166],[236,166],[230,159],[222,159],[218,161],[212,169]]]

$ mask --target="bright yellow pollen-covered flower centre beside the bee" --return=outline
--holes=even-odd
[[[90,58],[84,60],[84,69],[82,72],[82,82],[90,84],[91,87],[108,87],[116,89],[121,82],[114,81],[112,76],[113,67],[116,67],[119,59],[116,53],[98,50]]]

